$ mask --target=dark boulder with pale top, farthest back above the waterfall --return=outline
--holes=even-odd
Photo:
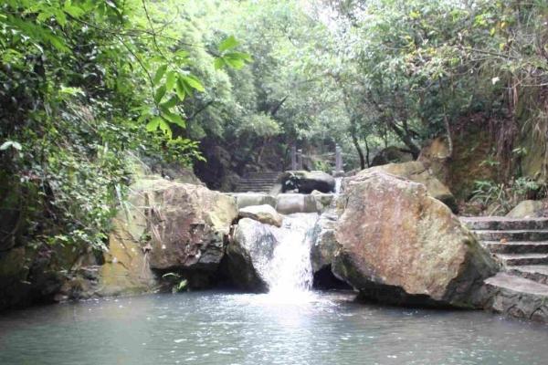
[[[297,189],[299,193],[312,193],[317,190],[321,193],[331,193],[335,190],[335,179],[321,171],[290,171],[280,177],[282,192]]]

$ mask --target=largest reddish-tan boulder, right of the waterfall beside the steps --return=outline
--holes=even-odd
[[[344,183],[333,272],[366,298],[480,307],[479,288],[498,266],[424,185],[383,172]]]

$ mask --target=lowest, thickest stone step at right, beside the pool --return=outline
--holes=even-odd
[[[521,276],[499,273],[485,280],[490,296],[486,306],[515,318],[548,322],[548,286]]]

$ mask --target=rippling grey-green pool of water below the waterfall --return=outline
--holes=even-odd
[[[483,312],[196,292],[0,317],[3,365],[547,364],[548,327]]]

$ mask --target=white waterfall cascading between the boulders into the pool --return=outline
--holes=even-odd
[[[318,214],[290,214],[275,231],[277,245],[263,275],[269,295],[293,300],[312,286],[311,232]]]

